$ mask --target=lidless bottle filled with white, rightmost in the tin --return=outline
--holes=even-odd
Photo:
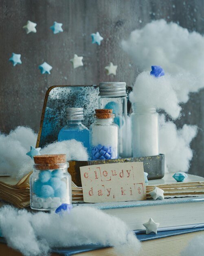
[[[132,110],[130,118],[133,157],[158,155],[159,124],[156,108],[133,103]]]

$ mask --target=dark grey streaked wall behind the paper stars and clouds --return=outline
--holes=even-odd
[[[175,8],[173,8],[175,5]],[[94,84],[126,81],[131,85],[137,67],[120,47],[121,39],[151,20],[179,22],[190,31],[204,31],[203,0],[0,0],[0,130],[26,125],[38,131],[46,89],[51,85]],[[37,23],[37,33],[26,34],[27,20]],[[139,22],[141,20],[142,22]],[[64,32],[54,35],[53,22],[63,23]],[[105,38],[100,47],[90,34]],[[22,54],[22,65],[13,67],[11,53]],[[72,68],[70,58],[83,56],[83,67]],[[38,65],[53,66],[42,75]],[[112,61],[117,75],[106,76],[104,67]],[[185,116],[179,127],[197,124],[204,128],[204,90],[192,94],[182,106]],[[191,112],[191,115],[189,115]],[[192,142],[194,157],[190,173],[204,175],[204,135],[199,130]]]

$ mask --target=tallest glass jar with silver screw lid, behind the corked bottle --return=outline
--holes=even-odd
[[[99,83],[99,108],[112,109],[119,126],[119,156],[129,157],[127,145],[127,94],[124,82]]]

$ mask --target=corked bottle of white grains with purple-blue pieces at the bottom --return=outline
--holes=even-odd
[[[96,109],[90,126],[91,160],[118,158],[118,125],[114,123],[112,109]]]

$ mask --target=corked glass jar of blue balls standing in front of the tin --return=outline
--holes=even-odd
[[[55,210],[61,204],[72,203],[71,175],[66,155],[34,156],[34,169],[30,177],[31,209]]]

